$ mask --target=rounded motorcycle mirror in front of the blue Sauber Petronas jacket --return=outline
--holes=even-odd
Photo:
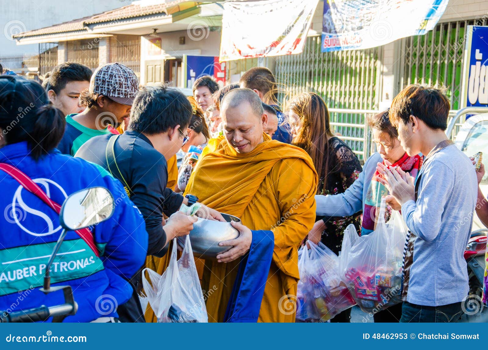
[[[61,207],[60,223],[66,230],[79,230],[109,219],[114,197],[105,187],[90,187],[71,194]]]

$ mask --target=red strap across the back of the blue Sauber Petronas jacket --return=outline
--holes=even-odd
[[[15,166],[11,166],[5,163],[0,163],[0,170],[5,171],[7,174],[12,176],[15,180],[19,182],[19,184],[22,185],[23,188],[25,188],[27,191],[31,192],[35,196],[39,197],[42,202],[46,203],[49,205],[51,209],[53,209],[56,213],[61,212],[61,205],[58,203],[54,202],[51,200],[45,192],[39,187],[38,184],[36,184],[30,177],[25,175],[22,171],[20,171],[18,168]],[[98,252],[97,246],[95,245],[93,235],[91,231],[88,228],[82,228],[79,230],[75,230],[75,232],[80,236],[81,239],[85,241],[86,244],[93,250],[95,255],[97,257],[100,257],[100,254]]]

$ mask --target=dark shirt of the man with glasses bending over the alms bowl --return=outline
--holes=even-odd
[[[92,137],[80,147],[75,157],[96,163],[108,170],[105,150],[112,136],[114,135]],[[127,130],[119,135],[114,153],[122,177],[131,190],[130,200],[137,205],[146,223],[146,231],[149,235],[147,254],[162,257],[166,242],[163,213],[166,216],[175,213],[183,203],[183,196],[166,188],[168,181],[166,160],[143,134]],[[114,170],[113,166],[112,170]],[[112,175],[124,186],[126,185],[118,171],[112,171]]]

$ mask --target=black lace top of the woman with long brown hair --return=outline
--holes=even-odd
[[[327,181],[319,180],[317,194],[335,195],[344,193],[346,189],[358,178],[363,170],[356,154],[338,137],[331,137],[328,141],[331,147]],[[341,250],[343,233],[349,224],[354,224],[356,230],[361,232],[361,212],[349,217],[317,217],[325,222],[326,229],[322,232],[322,243],[338,254]]]

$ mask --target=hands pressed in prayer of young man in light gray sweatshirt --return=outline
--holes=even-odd
[[[382,163],[378,163],[376,169],[384,176],[384,179],[380,177],[376,179],[386,186],[390,195],[400,206],[409,200],[415,201],[415,179],[409,173],[400,167],[389,169],[388,165]]]

